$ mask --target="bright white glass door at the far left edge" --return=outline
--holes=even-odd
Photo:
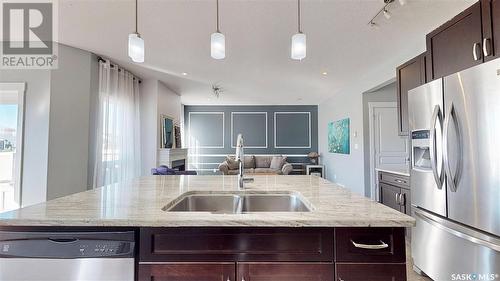
[[[24,83],[0,83],[0,212],[21,205]]]

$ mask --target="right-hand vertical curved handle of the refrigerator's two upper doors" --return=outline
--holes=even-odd
[[[450,128],[450,122],[451,120],[453,121],[453,125],[455,126],[456,130],[456,138],[457,138],[457,144],[458,144],[458,153],[457,153],[457,165],[456,165],[456,172],[453,174],[453,171],[450,166],[450,158],[448,155],[448,130]],[[446,114],[446,118],[444,121],[444,130],[443,130],[443,158],[444,158],[444,164],[445,164],[445,171],[446,171],[446,176],[448,177],[448,184],[450,186],[451,192],[457,192],[457,186],[458,182],[460,180],[460,174],[462,172],[462,135],[460,132],[460,126],[458,124],[458,119],[457,119],[457,113],[455,111],[455,106],[453,105],[453,102],[450,104],[450,109],[448,110],[448,113]]]

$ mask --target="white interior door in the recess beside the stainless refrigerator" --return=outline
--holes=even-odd
[[[398,109],[393,102],[373,102],[370,108],[370,174],[372,198],[378,200],[375,169],[408,170],[408,138],[398,135]]]

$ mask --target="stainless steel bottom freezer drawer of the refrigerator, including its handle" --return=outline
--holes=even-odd
[[[415,210],[415,218],[412,258],[415,265],[433,280],[500,278],[500,239],[421,209]],[[467,275],[472,279],[457,279]]]

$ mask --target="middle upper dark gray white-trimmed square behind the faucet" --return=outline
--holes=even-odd
[[[267,112],[231,112],[231,147],[243,134],[246,148],[267,148]]]

